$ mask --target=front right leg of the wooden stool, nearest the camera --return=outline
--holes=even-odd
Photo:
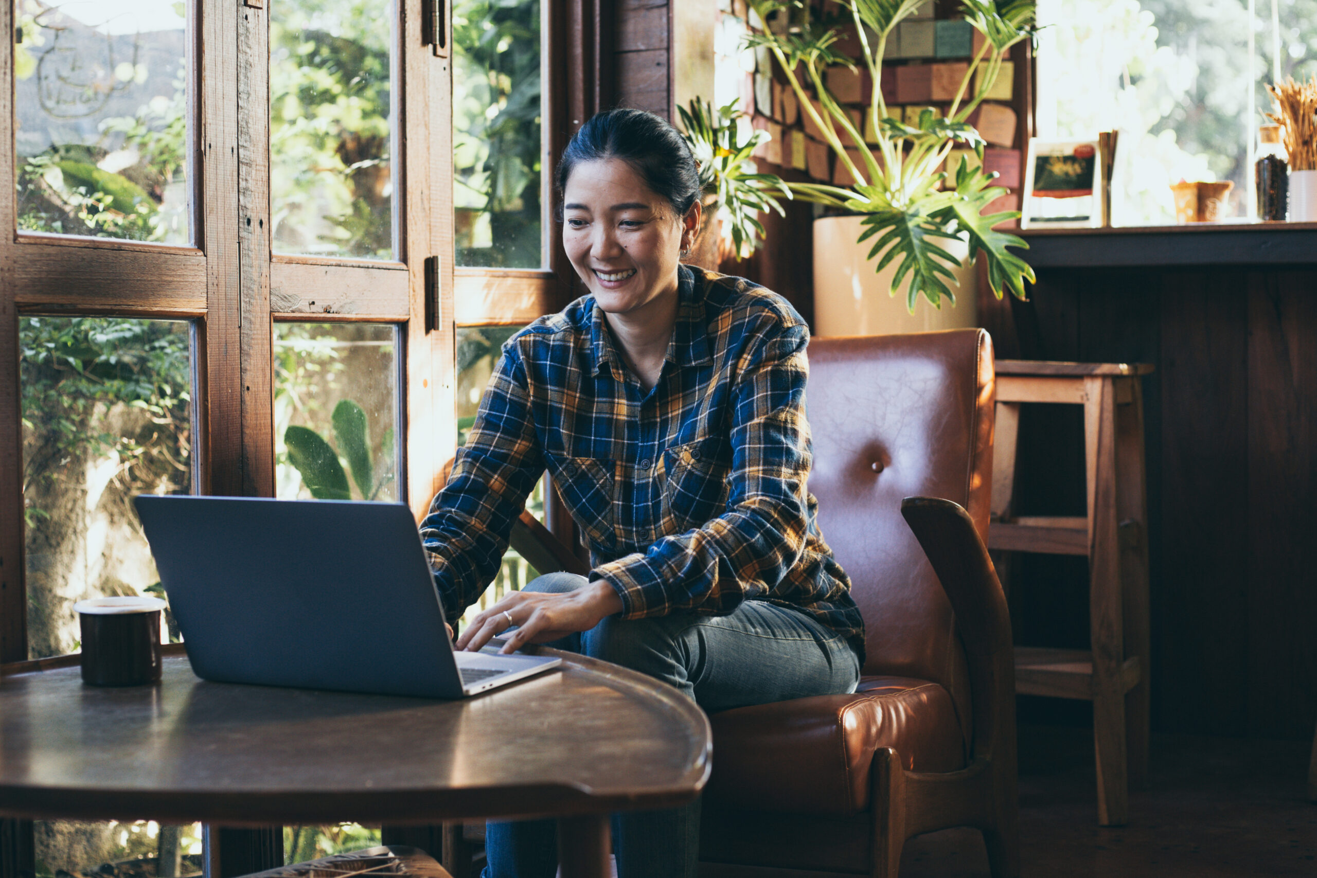
[[[1097,820],[1129,819],[1126,762],[1123,608],[1117,519],[1115,394],[1106,378],[1085,378],[1084,425],[1088,463],[1089,625],[1093,650],[1093,744]]]

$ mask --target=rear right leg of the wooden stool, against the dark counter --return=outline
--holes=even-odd
[[[1138,378],[1119,378],[1115,405],[1117,519],[1121,528],[1121,583],[1125,656],[1139,659],[1139,682],[1125,696],[1129,782],[1148,786],[1151,724],[1151,623],[1148,619],[1147,474],[1143,455],[1143,390]]]

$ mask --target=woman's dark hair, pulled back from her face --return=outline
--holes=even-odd
[[[577,165],[616,158],[649,190],[686,216],[699,199],[699,170],[681,133],[662,116],[643,109],[610,109],[591,116],[562,151],[553,182],[561,203]],[[562,208],[558,207],[561,219]]]

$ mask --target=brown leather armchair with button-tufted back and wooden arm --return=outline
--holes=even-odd
[[[994,877],[1015,875],[1010,621],[982,542],[992,344],[968,329],[809,355],[810,490],[868,658],[853,695],[710,717],[701,875],[890,877],[907,837],[959,825],[982,831]]]

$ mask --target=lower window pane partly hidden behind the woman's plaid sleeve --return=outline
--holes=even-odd
[[[523,326],[458,326],[457,328],[457,444],[465,445],[475,424],[475,412],[481,405],[481,395],[490,383],[494,366],[498,362],[503,344]],[[536,519],[544,520],[544,479],[540,479],[535,491],[525,499],[527,511]],[[497,603],[508,591],[518,591],[522,586],[540,575],[529,562],[508,548],[503,555],[503,566],[498,577],[481,599],[471,604],[462,624],[486,607]]]

